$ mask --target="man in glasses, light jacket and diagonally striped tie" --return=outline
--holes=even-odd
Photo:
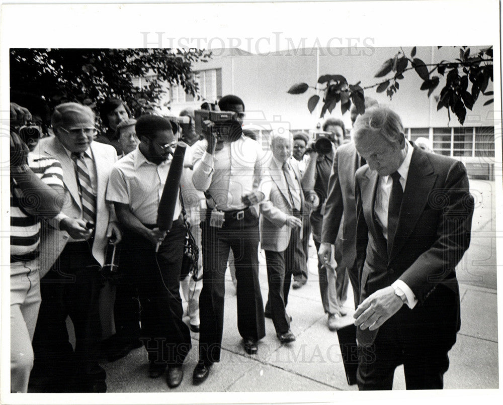
[[[41,142],[38,153],[59,160],[65,202],[41,232],[42,304],[33,339],[34,390],[105,392],[105,370],[98,364],[100,268],[109,241],[121,239],[105,190],[117,160],[110,145],[93,142],[95,115],[86,106],[65,103],[52,119],[55,136]],[[66,317],[75,330],[75,349],[68,341]]]

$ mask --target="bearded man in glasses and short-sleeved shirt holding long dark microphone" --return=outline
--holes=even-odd
[[[157,227],[157,209],[177,142],[170,121],[144,115],[138,118],[140,144],[112,169],[107,200],[115,206],[124,228],[123,283],[138,289],[143,344],[148,353],[149,376],[157,378],[167,367],[170,388],[182,382],[183,362],[191,349],[191,336],[183,322],[180,271],[186,228],[177,198],[169,232]],[[177,195],[179,190],[173,190]],[[158,250],[156,246],[159,244]],[[116,306],[120,302],[116,302]]]

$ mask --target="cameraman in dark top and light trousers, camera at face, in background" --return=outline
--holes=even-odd
[[[316,135],[315,142],[311,142],[308,146],[306,153],[310,155],[311,159],[302,177],[303,189],[306,191],[314,190],[320,201],[320,205],[311,213],[310,217],[316,251],[318,251],[321,243],[321,225],[328,189],[328,178],[336,148],[343,142],[346,128],[342,120],[329,118],[323,123],[322,130],[323,132]],[[339,249],[336,247],[335,259],[340,262],[338,251]],[[342,308],[342,301],[345,299],[348,289],[348,276],[342,266],[341,269],[337,268],[336,271],[329,267],[329,263],[325,264],[318,261],[319,290],[323,310],[328,315],[327,326],[330,331],[336,331],[339,327],[339,317],[346,314]]]

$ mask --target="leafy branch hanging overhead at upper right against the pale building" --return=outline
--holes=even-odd
[[[312,114],[321,99],[323,106],[320,118],[323,118],[327,111],[331,113],[339,103],[341,103],[342,114],[345,114],[352,104],[356,106],[359,114],[363,114],[365,112],[365,90],[375,88],[378,93],[386,91],[386,95],[391,99],[400,88],[400,80],[404,79],[404,73],[409,70],[414,70],[421,77],[423,83],[420,89],[428,90],[428,97],[432,95],[440,82],[445,80],[445,85],[438,97],[437,111],[445,108],[449,121],[452,112],[463,124],[466,109],[473,108],[480,94],[493,95],[492,91],[486,91],[489,80],[493,81],[492,47],[481,49],[470,55],[470,48],[462,46],[459,49],[459,58],[454,61],[442,60],[433,64],[426,64],[420,58],[416,58],[416,47],[411,49],[409,55],[407,56],[400,48],[397,54],[393,58],[387,59],[374,75],[376,78],[383,78],[382,81],[365,87],[360,85],[360,81],[356,84],[349,84],[346,78],[340,74],[320,76],[312,88],[316,93],[322,95],[315,94],[309,98],[307,102],[309,112]],[[297,83],[289,88],[288,93],[301,94],[306,92],[308,88],[307,83]],[[493,101],[493,98],[487,99],[484,106]]]

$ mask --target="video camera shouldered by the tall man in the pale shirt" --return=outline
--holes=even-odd
[[[241,124],[236,121],[237,114],[233,111],[196,110],[194,116],[196,133],[211,132],[218,140],[227,140],[237,129],[241,130]]]

